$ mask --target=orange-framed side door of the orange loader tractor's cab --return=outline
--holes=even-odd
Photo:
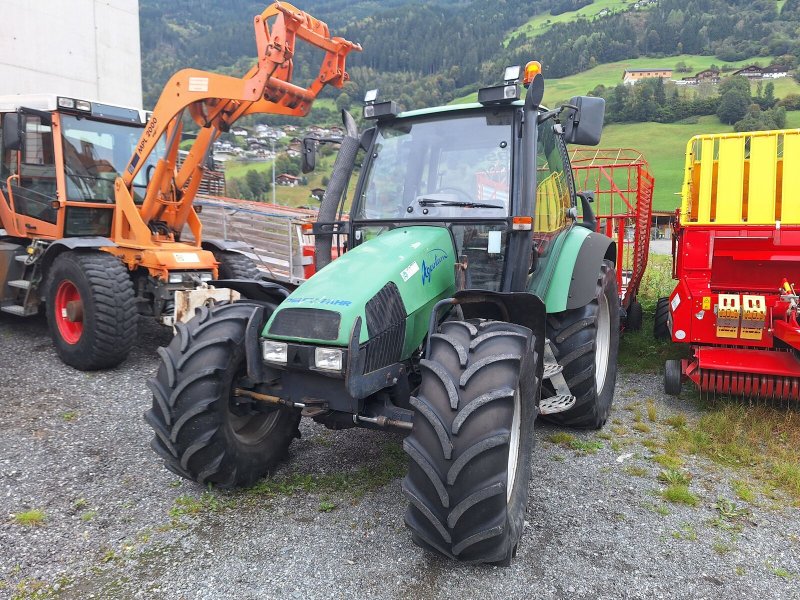
[[[60,237],[57,160],[49,114],[21,110],[3,117],[2,185],[16,228],[26,237]],[[16,130],[18,135],[12,135]],[[10,143],[11,140],[15,143]]]

